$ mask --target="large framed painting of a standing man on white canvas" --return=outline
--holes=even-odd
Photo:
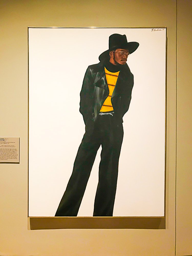
[[[166,28],[29,28],[28,215],[164,216]]]

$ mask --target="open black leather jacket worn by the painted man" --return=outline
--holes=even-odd
[[[105,76],[104,63],[90,65],[85,73],[80,92],[80,113],[84,123],[88,120],[95,121],[101,106],[109,95],[109,88]],[[133,74],[127,64],[122,65],[111,102],[114,116],[119,122],[123,122],[123,116],[129,109],[131,92],[133,89]]]

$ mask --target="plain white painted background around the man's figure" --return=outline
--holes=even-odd
[[[147,28],[29,28],[29,216],[55,215],[85,131],[84,73],[113,33],[140,43],[127,61],[134,87],[113,216],[164,216],[166,31]],[[93,214],[100,151],[78,216]]]

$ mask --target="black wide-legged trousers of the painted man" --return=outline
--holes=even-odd
[[[89,120],[74,161],[73,172],[55,216],[77,216],[91,169],[102,146],[93,216],[113,216],[123,125],[115,116]]]

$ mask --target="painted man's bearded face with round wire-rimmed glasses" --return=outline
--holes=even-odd
[[[119,65],[119,64],[125,65],[128,57],[127,53],[129,53],[127,49],[121,49],[121,48],[118,48],[115,51],[110,51],[109,53],[110,62],[113,63],[114,65]]]

